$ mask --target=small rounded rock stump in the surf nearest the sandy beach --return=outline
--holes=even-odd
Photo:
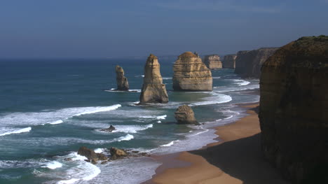
[[[193,109],[187,105],[177,108],[177,111],[175,111],[175,120],[181,124],[198,125]]]

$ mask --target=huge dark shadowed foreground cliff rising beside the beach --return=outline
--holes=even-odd
[[[293,183],[328,183],[328,36],[303,37],[261,68],[266,159]],[[314,180],[313,180],[314,179]]]

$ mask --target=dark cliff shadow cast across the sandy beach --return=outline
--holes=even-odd
[[[260,134],[256,134],[190,153],[204,157],[207,162],[240,179],[244,184],[287,183],[278,171],[264,160],[260,141]]]

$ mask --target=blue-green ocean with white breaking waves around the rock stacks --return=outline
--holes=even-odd
[[[173,92],[174,60],[160,59],[168,104],[137,106],[144,59],[0,60],[0,183],[141,183],[160,163],[151,157],[90,164],[81,146],[102,153],[117,147],[175,153],[215,142],[216,127],[245,116],[235,104],[259,101],[259,80],[231,69],[212,71],[213,92]],[[130,89],[116,88],[120,65]],[[189,104],[200,126],[175,124]],[[113,125],[115,132],[101,132]],[[72,161],[66,161],[71,158]]]

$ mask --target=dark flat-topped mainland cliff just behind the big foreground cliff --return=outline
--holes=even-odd
[[[262,64],[278,48],[260,48],[258,50],[240,51],[235,59],[235,73],[242,78],[259,78]]]

